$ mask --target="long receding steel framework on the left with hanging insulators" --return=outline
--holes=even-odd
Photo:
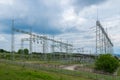
[[[12,20],[11,53],[12,53],[13,60],[14,60],[14,52],[15,52],[15,32],[30,35],[29,38],[21,39],[21,49],[23,49],[23,42],[24,41],[29,41],[29,54],[32,54],[32,45],[33,45],[33,42],[35,40],[41,40],[42,41],[42,43],[43,43],[43,53],[47,53],[47,49],[48,49],[47,42],[48,41],[52,42],[52,45],[51,45],[52,52],[55,52],[55,47],[59,47],[61,52],[62,52],[63,48],[66,49],[66,53],[71,53],[72,52],[72,48],[73,48],[72,44],[69,44],[68,42],[64,43],[62,41],[55,40],[54,38],[53,39],[48,38],[47,36],[41,36],[41,35],[38,35],[38,34],[34,34],[34,33],[32,33],[32,28],[30,29],[30,32],[23,31],[23,30],[20,30],[20,29],[16,29],[14,27],[14,20]],[[56,43],[59,44],[59,46],[55,45]]]

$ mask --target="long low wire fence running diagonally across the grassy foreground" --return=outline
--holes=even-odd
[[[79,76],[79,77],[85,77],[88,79],[93,80],[120,80],[120,76],[116,75],[104,75],[104,74],[96,74],[91,73],[87,71],[70,71],[70,70],[64,70],[59,68],[57,65],[42,65],[42,64],[32,64],[32,63],[26,63],[26,62],[17,62],[17,61],[10,61],[10,60],[0,60],[1,63],[6,64],[12,64],[16,66],[21,66],[23,68],[32,68],[35,70],[45,70],[49,72],[57,72],[61,74],[71,75],[71,76]]]

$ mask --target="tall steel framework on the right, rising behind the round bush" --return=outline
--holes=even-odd
[[[96,21],[96,54],[113,53],[113,43],[111,42],[100,21]]]

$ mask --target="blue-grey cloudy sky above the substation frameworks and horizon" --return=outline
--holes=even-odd
[[[11,20],[15,27],[62,39],[95,52],[98,19],[120,52],[120,0],[0,0],[0,48],[10,50]],[[98,15],[97,15],[98,14]],[[23,34],[16,34],[20,44]],[[4,43],[4,44],[3,44]]]

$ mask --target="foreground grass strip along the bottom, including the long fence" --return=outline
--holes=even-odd
[[[86,71],[70,71],[42,66],[38,67],[32,64],[20,63],[21,62],[16,63],[16,61],[10,60],[0,60],[0,80],[120,80],[120,76],[96,74]],[[46,75],[44,77],[52,77],[52,79],[46,79],[44,77],[41,79],[40,77],[43,75]]]

